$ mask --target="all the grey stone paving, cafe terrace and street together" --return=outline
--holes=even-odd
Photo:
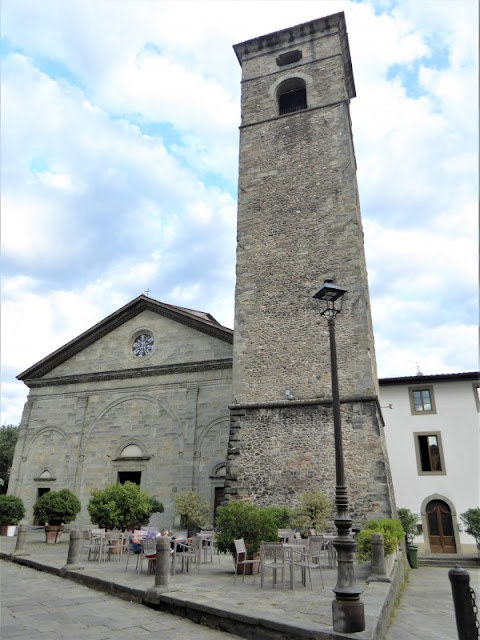
[[[264,589],[260,587],[260,580],[253,580],[252,576],[247,576],[245,581],[240,578],[235,581],[232,558],[224,554],[215,555],[213,562],[202,563],[199,573],[177,572],[170,576],[168,593],[160,596],[163,605],[173,604],[170,610],[180,615],[193,613],[194,619],[198,618],[204,625],[213,623],[218,626],[220,619],[228,622],[227,631],[216,631],[140,604],[146,590],[154,586],[154,576],[146,569],[136,571],[135,558],[127,570],[125,557],[112,557],[107,562],[87,561],[84,557],[83,569],[70,569],[68,578],[57,577],[65,568],[68,543],[68,536],[64,536],[55,545],[45,544],[43,530],[29,529],[25,553],[20,554],[16,562],[9,562],[13,558],[10,554],[16,547],[16,539],[0,536],[0,558],[5,559],[0,561],[2,605],[5,609],[0,631],[2,640],[41,640],[47,635],[54,640],[63,637],[72,640],[119,640],[128,637],[136,640],[154,632],[162,640],[180,637],[182,640],[233,640],[238,637],[232,633],[238,632],[239,625],[243,632],[247,630],[250,633],[251,638],[271,638],[273,630],[280,630],[277,637],[285,640],[292,637],[331,640],[334,636],[331,603],[337,577],[335,568],[324,568],[324,586],[320,575],[312,576],[312,589],[302,586],[300,572],[297,572],[294,590],[282,589],[281,586],[273,589],[271,575]],[[462,564],[461,557],[457,560]],[[478,597],[480,567],[469,568],[468,571],[471,586]],[[21,580],[19,578],[17,587],[12,589],[15,580],[10,580],[10,576],[16,575]],[[54,585],[61,595],[61,606],[57,595],[47,591],[48,584]],[[87,584],[90,588],[85,586]],[[373,637],[377,640],[457,640],[448,569],[421,567],[408,572],[408,583],[392,626],[382,637],[377,622],[381,620],[381,626],[385,628],[386,621],[381,618],[381,612],[389,585],[385,582],[367,583],[358,575],[357,584],[363,590],[361,598],[365,606],[366,630],[349,637],[362,640]],[[136,604],[108,593],[134,599]],[[76,606],[69,606],[72,603]],[[210,616],[210,620],[205,616]],[[262,629],[264,633],[261,633]]]

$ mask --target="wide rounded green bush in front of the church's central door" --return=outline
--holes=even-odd
[[[96,489],[87,505],[90,519],[98,527],[122,531],[147,524],[153,508],[151,497],[134,482]]]

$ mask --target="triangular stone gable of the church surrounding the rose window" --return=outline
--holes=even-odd
[[[133,343],[151,336],[151,352]],[[233,331],[208,313],[139,296],[17,376],[31,386],[39,378],[162,368],[231,358]]]

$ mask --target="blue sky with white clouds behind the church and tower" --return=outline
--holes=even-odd
[[[338,11],[379,375],[477,369],[476,0],[3,0],[2,423],[147,290],[233,327],[232,45]]]

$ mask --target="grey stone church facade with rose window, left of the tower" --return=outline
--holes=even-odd
[[[33,504],[50,489],[80,499],[130,480],[165,507],[177,492],[223,501],[231,329],[209,314],[139,296],[18,377],[30,387],[9,490]]]

